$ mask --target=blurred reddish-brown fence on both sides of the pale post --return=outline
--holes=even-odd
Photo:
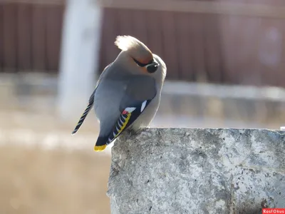
[[[58,72],[64,1],[49,2],[0,0],[1,71]],[[234,2],[102,1],[100,71],[115,36],[130,34],[162,56],[168,79],[285,87],[285,2]]]

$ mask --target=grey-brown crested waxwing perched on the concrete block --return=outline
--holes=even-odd
[[[133,36],[117,36],[120,54],[100,74],[88,106],[72,135],[95,109],[100,132],[94,151],[104,151],[121,133],[136,133],[149,126],[160,105],[167,67],[142,41]]]

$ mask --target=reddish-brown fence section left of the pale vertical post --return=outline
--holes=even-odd
[[[57,71],[63,5],[0,2],[2,71]]]

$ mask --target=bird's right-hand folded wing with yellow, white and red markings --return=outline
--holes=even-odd
[[[128,128],[145,111],[156,95],[155,80],[148,76],[131,78],[120,103],[120,117],[113,125],[110,133],[100,136],[95,144],[95,151],[102,151],[115,138]]]

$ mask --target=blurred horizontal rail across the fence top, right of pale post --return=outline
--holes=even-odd
[[[177,11],[202,14],[225,14],[239,16],[259,16],[266,18],[285,18],[285,3],[283,6],[271,4],[244,4],[238,1],[151,1],[151,0],[100,0],[100,5],[106,8],[144,9],[156,11]],[[258,2],[258,1],[257,1]]]

